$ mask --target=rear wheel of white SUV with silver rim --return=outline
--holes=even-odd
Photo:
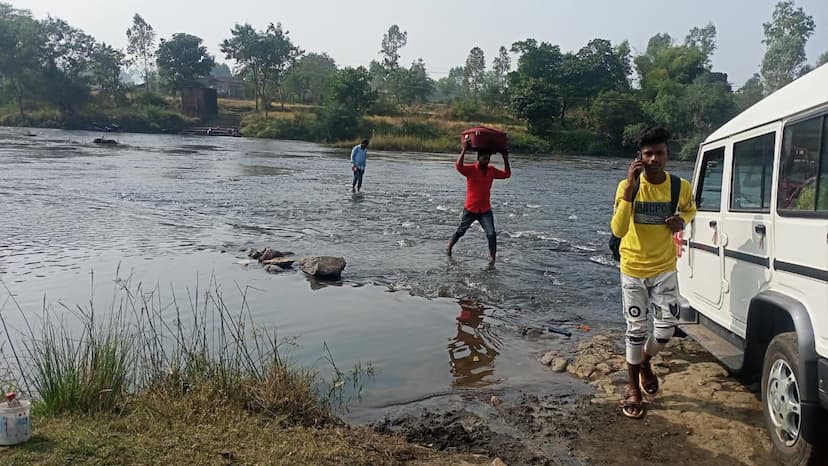
[[[781,333],[771,340],[762,367],[762,407],[774,450],[786,465],[816,464],[819,448],[800,435],[802,429],[802,378],[796,333]]]

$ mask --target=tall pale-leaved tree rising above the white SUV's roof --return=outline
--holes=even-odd
[[[763,23],[767,49],[762,59],[762,82],[770,93],[801,75],[805,44],[814,33],[814,18],[792,0],[779,2],[769,23]]]

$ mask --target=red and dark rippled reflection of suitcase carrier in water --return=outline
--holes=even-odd
[[[448,344],[449,365],[454,387],[483,387],[497,383],[494,360],[503,341],[484,322],[484,308],[472,300],[460,300],[457,334]]]

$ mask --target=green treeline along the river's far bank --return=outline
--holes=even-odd
[[[656,34],[639,54],[627,41],[596,38],[567,52],[530,38],[500,47],[487,66],[484,51],[474,47],[465,63],[435,80],[422,59],[400,62],[408,34],[397,25],[382,37],[370,66],[340,68],[327,54],[302,50],[279,23],[263,30],[237,24],[220,44],[231,70],[216,63],[199,37],[177,33],[156,41],[137,14],[126,32],[129,46],[120,51],[62,20],[36,20],[0,4],[0,123],[25,123],[37,112],[77,122],[104,110],[122,119],[151,112],[181,119],[169,96],[211,77],[232,77],[255,101],[244,129],[252,136],[340,141],[380,131],[448,144],[462,124],[480,122],[506,127],[521,147],[538,152],[612,154],[630,150],[642,126],[659,122],[673,131],[679,154],[691,158],[718,125],[812,69],[805,45],[815,24],[802,8],[780,2],[763,27],[760,72],[734,90],[712,67],[712,23],[683,40]],[[826,61],[828,53],[816,64]],[[124,82],[126,69],[138,70],[140,85]],[[285,103],[305,105],[285,117]],[[153,122],[154,129],[184,122],[162,123]]]

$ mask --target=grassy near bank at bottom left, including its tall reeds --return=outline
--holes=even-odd
[[[327,347],[325,373],[292,363],[284,355],[291,340],[256,325],[244,290],[227,299],[211,280],[206,290],[187,290],[180,306],[158,288],[115,283],[105,312],[61,305],[36,323],[18,307],[29,330],[22,341],[7,338],[4,348],[22,363],[4,350],[2,383],[30,387],[33,437],[0,449],[0,463],[462,460],[343,426],[337,414],[360,396],[370,365],[341,370]]]

